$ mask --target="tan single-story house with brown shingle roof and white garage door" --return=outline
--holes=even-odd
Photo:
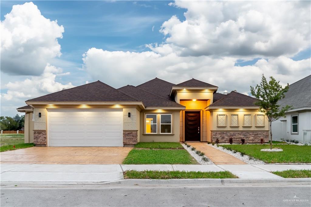
[[[115,89],[96,81],[26,101],[25,142],[37,146],[123,146],[137,142],[268,140],[257,99],[191,79],[155,78]]]

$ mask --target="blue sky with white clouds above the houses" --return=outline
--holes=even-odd
[[[1,1],[1,116],[100,80],[195,78],[249,94],[310,75],[309,1]],[[21,114],[21,113],[18,113]]]

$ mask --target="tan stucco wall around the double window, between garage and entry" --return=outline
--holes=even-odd
[[[173,120],[173,125],[172,125],[172,132],[173,134],[169,135],[164,135],[164,134],[149,134],[146,135],[144,134],[144,114],[145,113],[172,113],[172,120]],[[150,111],[141,111],[140,112],[140,141],[141,142],[179,142],[179,133],[180,133],[180,127],[179,127],[179,122],[180,122],[180,110],[175,110],[175,111],[165,111],[161,110],[161,112],[157,110],[150,110]]]

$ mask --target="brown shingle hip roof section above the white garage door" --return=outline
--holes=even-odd
[[[72,102],[116,102],[116,101],[134,101],[137,100],[129,95],[118,91],[117,89],[101,82],[96,81],[74,88],[61,90],[52,94],[40,96],[27,101],[72,101]]]

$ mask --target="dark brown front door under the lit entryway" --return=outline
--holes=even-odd
[[[201,115],[199,111],[185,112],[185,141],[200,141]]]

